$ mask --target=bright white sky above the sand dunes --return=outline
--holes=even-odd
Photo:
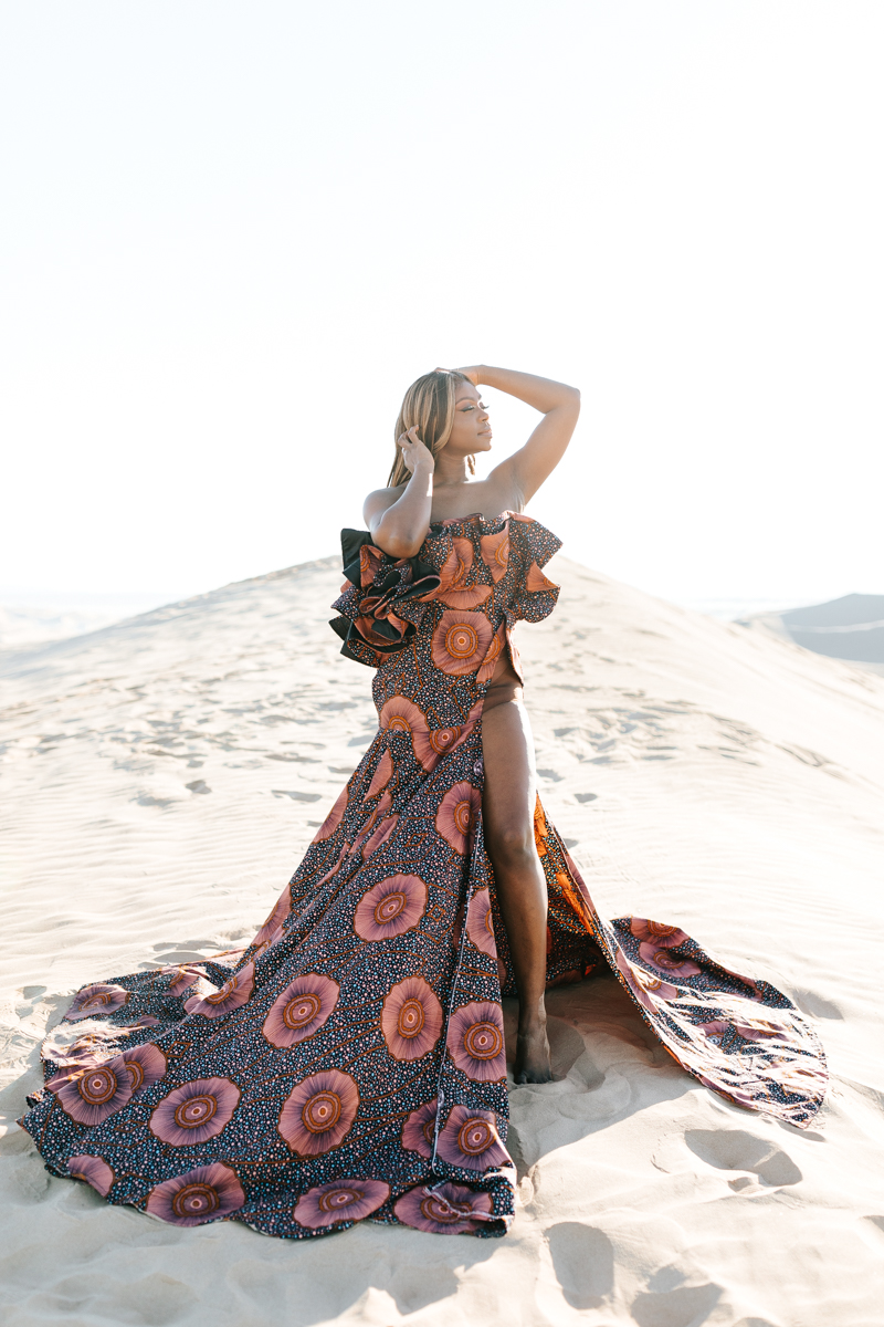
[[[488,362],[582,389],[566,555],[884,592],[880,0],[0,13],[0,585],[331,553],[406,386]]]

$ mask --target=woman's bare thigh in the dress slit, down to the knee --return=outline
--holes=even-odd
[[[482,819],[493,860],[534,843],[534,742],[521,701],[505,701],[482,713]]]

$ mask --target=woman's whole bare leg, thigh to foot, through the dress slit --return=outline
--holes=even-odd
[[[546,877],[534,845],[531,727],[516,695],[521,697],[521,689],[490,687],[482,711],[482,817],[518,987],[514,1078],[517,1083],[549,1083],[553,1071],[543,1005]]]

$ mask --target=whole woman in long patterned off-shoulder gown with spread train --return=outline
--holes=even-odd
[[[478,480],[482,384],[543,418]],[[378,734],[247,950],[74,997],[21,1121],[53,1173],[186,1226],[504,1234],[501,991],[516,1079],[546,1082],[543,990],[600,962],[700,1082],[810,1123],[826,1075],[802,1015],[675,926],[603,922],[535,796],[512,628],[555,606],[559,541],[521,508],[577,415],[573,387],[505,369],[410,387],[331,624],[375,669]]]

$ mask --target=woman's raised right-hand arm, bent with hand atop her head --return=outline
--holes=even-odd
[[[580,414],[580,393],[565,382],[538,378],[533,373],[517,373],[516,369],[496,369],[488,364],[476,364],[460,372],[474,386],[484,384],[497,387],[543,414],[525,446],[496,466],[488,476],[490,482],[512,482],[521,492],[522,502],[529,502],[565,455]]]

